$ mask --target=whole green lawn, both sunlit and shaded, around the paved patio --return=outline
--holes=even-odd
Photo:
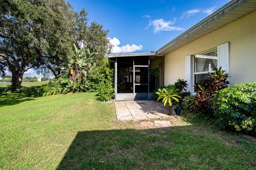
[[[0,94],[0,169],[255,169],[256,143],[180,118],[166,129],[118,122],[93,93]]]

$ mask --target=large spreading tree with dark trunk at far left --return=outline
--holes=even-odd
[[[62,61],[70,52],[67,28],[73,11],[65,1],[4,0],[0,11],[0,58],[12,84],[20,86],[29,68]]]

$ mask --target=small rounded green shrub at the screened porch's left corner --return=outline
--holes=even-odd
[[[100,82],[97,96],[101,101],[108,101],[114,98],[115,89],[111,79],[106,79]]]

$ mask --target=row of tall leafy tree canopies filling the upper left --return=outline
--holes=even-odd
[[[74,56],[74,45],[94,53],[97,65],[112,48],[107,35],[84,8],[75,11],[64,0],[1,0],[0,76],[9,70],[15,86],[31,68],[57,78]]]

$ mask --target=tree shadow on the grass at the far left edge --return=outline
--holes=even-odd
[[[27,97],[25,94],[0,92],[0,107],[16,105],[28,100],[34,100],[34,98]]]

